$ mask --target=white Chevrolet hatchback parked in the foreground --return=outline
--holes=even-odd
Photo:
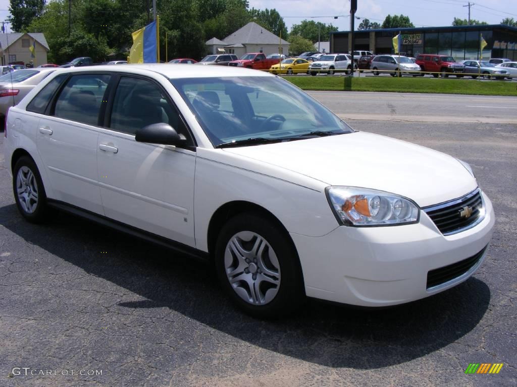
[[[255,316],[434,295],[474,273],[494,228],[468,164],[354,131],[253,70],[58,70],[9,109],[4,143],[28,221],[60,208],[212,260]]]

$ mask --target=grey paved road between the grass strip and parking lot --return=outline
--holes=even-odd
[[[513,96],[310,91],[345,120],[517,124]]]

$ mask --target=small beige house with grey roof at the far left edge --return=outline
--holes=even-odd
[[[35,44],[34,57],[31,56],[30,48]],[[49,44],[43,34],[0,34],[0,55],[2,65],[23,62],[24,65],[33,61],[34,67],[44,65],[47,62],[47,53],[50,51]]]

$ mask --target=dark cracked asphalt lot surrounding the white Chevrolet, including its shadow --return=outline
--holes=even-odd
[[[497,218],[480,270],[399,307],[308,301],[279,321],[235,310],[206,264],[62,213],[25,222],[2,133],[0,386],[516,385],[517,125],[455,121],[349,123],[472,165]]]

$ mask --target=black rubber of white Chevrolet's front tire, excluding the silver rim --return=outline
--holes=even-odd
[[[246,281],[239,281],[239,284],[242,284],[242,286],[236,285],[234,288],[226,275],[226,248],[229,245],[230,240],[240,232],[251,232],[260,235],[275,252],[278,260],[280,282],[277,288],[277,293],[271,300],[262,305],[246,301],[242,298],[243,296],[239,296],[239,294],[237,294],[237,291],[240,291],[241,294],[246,293],[246,297],[250,297],[251,293],[248,293],[246,290],[250,289],[250,287]],[[250,251],[251,244],[254,244],[253,239],[250,239]],[[264,248],[264,252],[266,253],[267,259],[267,256],[269,256],[267,254],[269,252],[267,246]],[[264,255],[264,252],[262,255]],[[230,257],[231,260],[233,259],[233,262],[230,262],[230,264],[235,267],[238,262],[235,254],[230,253]],[[269,261],[269,263],[271,263],[271,261]],[[248,266],[248,275],[254,270],[257,270],[257,267],[260,268],[260,265],[255,265],[253,269],[250,270],[252,264],[253,262]],[[290,237],[277,223],[259,214],[239,214],[224,224],[217,238],[215,265],[217,276],[224,291],[229,295],[230,299],[238,308],[252,316],[258,318],[271,318],[286,315],[293,312],[305,299],[298,254],[296,253],[296,249],[294,248]],[[246,269],[243,270],[242,275],[246,273]],[[260,286],[261,285],[259,284],[258,287],[260,288]]]

